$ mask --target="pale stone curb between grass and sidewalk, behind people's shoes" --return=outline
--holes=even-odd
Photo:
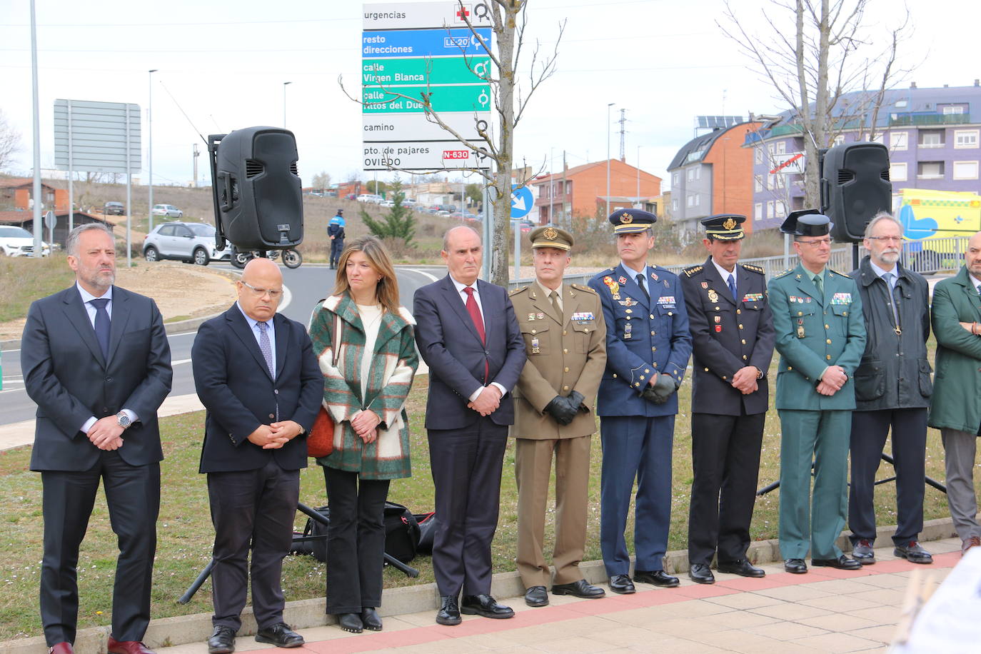
[[[876,534],[878,542],[888,541],[896,532],[896,527],[879,528]],[[920,541],[943,540],[956,535],[954,522],[950,518],[939,518],[926,521],[920,531]],[[838,546],[843,551],[851,551],[852,544],[847,535],[838,538]],[[754,564],[773,563],[780,561],[780,544],[776,538],[756,540],[749,544],[747,558]],[[608,578],[602,561],[587,561],[579,565],[583,576],[590,583],[604,583]],[[688,571],[688,552],[675,550],[664,555],[664,570],[668,573],[680,574]],[[670,592],[670,591],[669,591]],[[503,599],[521,597],[525,586],[517,572],[498,573],[493,576],[490,584],[490,594]],[[382,606],[379,615],[382,617],[397,616],[407,613],[418,613],[439,608],[439,590],[436,583],[422,583],[413,586],[388,588],[383,592]],[[321,597],[317,599],[301,599],[286,602],[283,619],[293,629],[309,629],[336,624],[334,616],[326,614],[327,602]],[[252,607],[246,606],[241,614],[242,626],[237,635],[254,635],[257,626],[252,615]],[[435,623],[434,623],[435,624]],[[111,627],[91,627],[80,629],[75,641],[77,654],[106,654],[106,643]],[[146,629],[143,641],[150,649],[173,647],[187,643],[204,643],[212,632],[211,614],[196,613],[173,618],[151,620]],[[44,636],[21,638],[0,642],[0,654],[46,654],[47,645]]]

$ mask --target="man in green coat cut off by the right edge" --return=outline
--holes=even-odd
[[[967,241],[964,266],[933,290],[937,375],[930,427],[940,429],[947,469],[947,503],[961,549],[981,545],[974,495],[974,454],[981,427],[981,231]]]

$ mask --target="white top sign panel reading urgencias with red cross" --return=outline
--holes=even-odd
[[[414,2],[411,4],[385,3],[364,6],[363,28],[371,29],[419,29],[421,27],[466,27],[464,16],[475,27],[490,27],[490,0],[463,2]]]

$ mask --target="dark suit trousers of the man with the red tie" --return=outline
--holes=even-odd
[[[428,429],[439,525],[433,572],[440,595],[490,594],[490,541],[497,529],[507,427],[480,418],[469,428]]]

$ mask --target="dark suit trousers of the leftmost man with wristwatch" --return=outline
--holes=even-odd
[[[44,560],[40,606],[48,646],[75,642],[78,546],[88,528],[100,479],[120,547],[113,586],[112,635],[117,640],[142,640],[150,622],[160,464],[130,466],[119,450],[100,451],[96,464],[86,471],[41,472]]]

